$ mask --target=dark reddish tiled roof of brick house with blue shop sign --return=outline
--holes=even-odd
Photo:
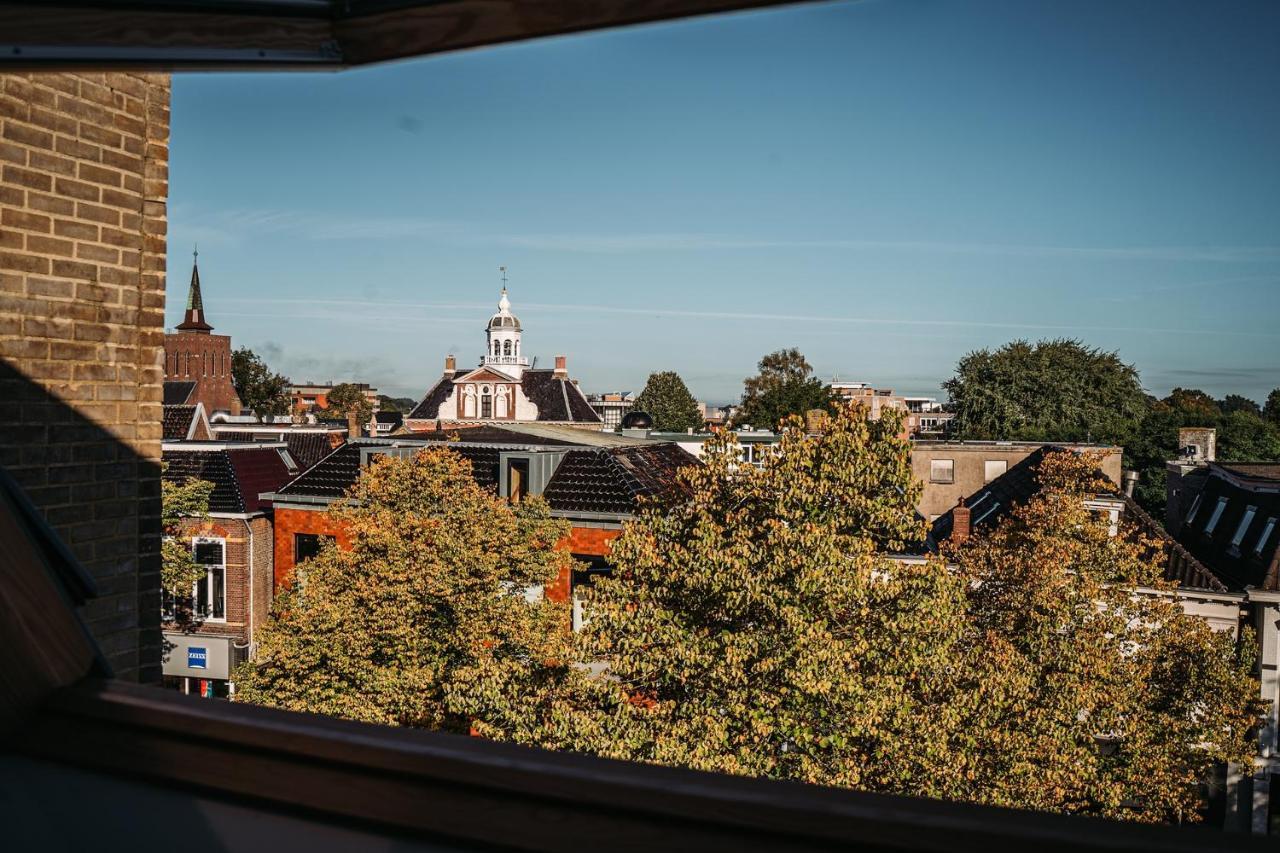
[[[259,494],[273,492],[289,479],[289,469],[274,447],[218,450],[166,450],[164,479],[214,484],[210,512],[257,512]]]

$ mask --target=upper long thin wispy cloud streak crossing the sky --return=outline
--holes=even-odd
[[[242,209],[200,211],[175,207],[175,234],[211,243],[238,245],[253,236],[288,234],[298,240],[430,240],[467,246],[493,246],[573,254],[645,254],[687,251],[835,250],[1056,257],[1134,261],[1280,261],[1280,246],[1028,246],[1016,243],[786,240],[768,236],[696,232],[511,233],[477,223],[419,216],[348,216],[323,213]]]

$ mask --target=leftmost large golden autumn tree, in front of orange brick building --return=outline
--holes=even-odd
[[[237,670],[238,701],[535,743],[570,666],[568,570],[547,503],[511,505],[453,451],[378,457],[329,510],[348,549],[301,564]]]

